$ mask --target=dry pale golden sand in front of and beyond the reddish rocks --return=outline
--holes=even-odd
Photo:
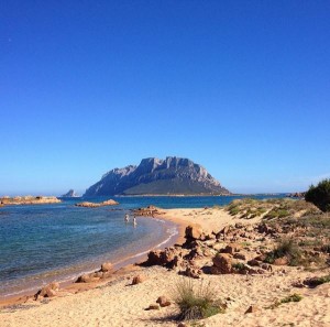
[[[191,222],[201,225],[207,231],[218,231],[235,222],[222,209],[173,209],[166,210],[164,218],[182,224],[182,232],[184,225]],[[330,284],[314,290],[292,286],[298,277],[327,273],[330,269],[311,273],[285,266],[267,275],[202,275],[201,280],[193,282],[210,283],[216,295],[228,301],[228,309],[196,326],[330,326]],[[136,274],[145,275],[146,280],[131,285]],[[178,321],[172,318],[177,314],[174,304],[160,310],[145,308],[161,295],[173,297],[173,288],[183,279],[186,277],[161,266],[135,268],[95,290],[2,308],[0,326],[177,326]],[[301,294],[302,299],[265,308],[293,293]],[[258,310],[244,314],[250,305],[256,305]]]

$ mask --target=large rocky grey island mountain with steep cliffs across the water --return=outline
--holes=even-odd
[[[109,195],[229,195],[206,168],[188,159],[143,159],[139,166],[114,168],[84,196]]]

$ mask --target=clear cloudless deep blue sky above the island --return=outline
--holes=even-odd
[[[330,177],[330,1],[0,0],[0,195],[188,157],[234,193]]]

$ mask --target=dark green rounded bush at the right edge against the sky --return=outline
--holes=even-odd
[[[330,211],[330,179],[323,179],[317,186],[311,185],[305,199],[315,204],[322,211]]]

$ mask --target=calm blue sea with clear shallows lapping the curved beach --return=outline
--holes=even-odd
[[[175,242],[177,226],[156,218],[124,222],[139,207],[204,208],[224,206],[243,196],[116,197],[112,207],[82,208],[75,204],[100,203],[109,197],[62,198],[59,204],[0,208],[0,298],[32,293],[57,281],[70,282],[92,272],[102,262],[119,269],[142,259],[151,249]],[[245,196],[246,197],[246,196]],[[285,195],[254,195],[254,198]]]

